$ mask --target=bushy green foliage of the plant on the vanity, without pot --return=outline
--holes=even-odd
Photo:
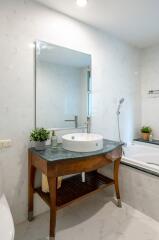
[[[36,128],[30,133],[30,141],[43,142],[49,139],[50,132],[44,128]]]

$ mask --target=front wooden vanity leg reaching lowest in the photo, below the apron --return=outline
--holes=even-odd
[[[50,240],[55,239],[57,178],[48,177],[50,191]]]

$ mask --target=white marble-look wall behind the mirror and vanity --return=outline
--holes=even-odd
[[[93,131],[111,139],[117,139],[120,97],[126,99],[121,115],[124,140],[130,140],[140,125],[139,53],[29,0],[1,1],[0,16],[0,138],[13,140],[12,148],[0,153],[0,167],[14,220],[20,222],[27,217],[27,147],[34,127],[32,43],[40,39],[92,55]]]

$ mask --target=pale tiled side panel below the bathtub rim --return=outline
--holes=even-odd
[[[159,177],[121,165],[122,201],[159,221]]]

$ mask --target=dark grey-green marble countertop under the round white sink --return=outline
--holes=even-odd
[[[40,158],[46,161],[55,162],[58,160],[71,159],[71,158],[78,159],[78,158],[84,158],[89,156],[98,156],[101,154],[111,152],[122,145],[123,144],[120,142],[104,139],[103,149],[95,152],[86,152],[86,153],[71,152],[63,149],[62,144],[59,144],[56,148],[52,148],[51,146],[46,146],[44,151],[37,151],[35,150],[35,148],[30,148],[30,151],[32,153],[36,153]]]

